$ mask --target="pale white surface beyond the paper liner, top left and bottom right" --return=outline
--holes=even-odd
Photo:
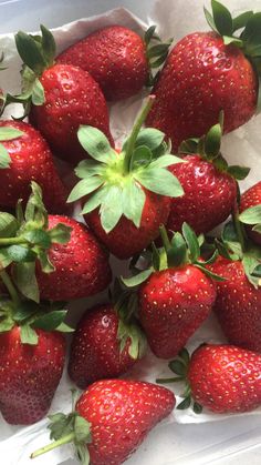
[[[186,1],[186,0],[184,0]],[[198,0],[195,0],[197,2]],[[252,0],[255,6],[257,0]],[[227,2],[228,3],[228,2]],[[1,33],[18,29],[35,30],[40,22],[49,28],[58,27],[81,17],[88,17],[115,7],[126,7],[146,20],[152,8],[150,0],[0,0]],[[163,9],[168,0],[161,0]],[[135,465],[192,465],[239,464],[251,461],[261,463],[260,417],[232,418],[203,425],[160,425],[139,448],[128,464]],[[1,455],[1,464],[4,457]],[[66,462],[66,465],[75,462]],[[48,464],[48,456],[46,456]],[[35,463],[36,465],[36,463]]]

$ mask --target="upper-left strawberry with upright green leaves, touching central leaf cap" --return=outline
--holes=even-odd
[[[41,31],[41,39],[23,32],[15,36],[17,49],[24,62],[25,110],[30,122],[54,153],[76,164],[86,156],[77,141],[80,124],[92,124],[111,138],[106,102],[98,84],[86,71],[54,64],[54,39],[43,26]],[[12,100],[7,95],[7,102]],[[24,103],[24,95],[17,95],[14,101]]]

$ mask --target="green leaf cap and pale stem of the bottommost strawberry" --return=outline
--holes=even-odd
[[[72,390],[72,394],[73,408],[69,415],[56,413],[49,416],[51,421],[48,426],[51,431],[50,439],[54,439],[54,442],[33,452],[30,458],[39,457],[64,444],[73,443],[79,461],[83,465],[90,464],[90,454],[86,444],[92,443],[92,424],[75,411],[76,392]]]

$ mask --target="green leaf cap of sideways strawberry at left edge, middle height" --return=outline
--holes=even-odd
[[[23,212],[18,202],[15,215],[0,212],[0,271],[12,265],[12,276],[21,294],[40,302],[35,277],[35,262],[44,273],[55,267],[48,252],[53,243],[65,244],[70,240],[71,228],[59,223],[48,230],[48,211],[42,201],[41,188],[31,183],[32,194]]]

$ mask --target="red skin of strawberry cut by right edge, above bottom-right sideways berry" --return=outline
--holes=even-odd
[[[226,277],[217,283],[215,312],[229,343],[261,352],[261,289],[248,281],[239,261],[220,259],[211,270]]]

